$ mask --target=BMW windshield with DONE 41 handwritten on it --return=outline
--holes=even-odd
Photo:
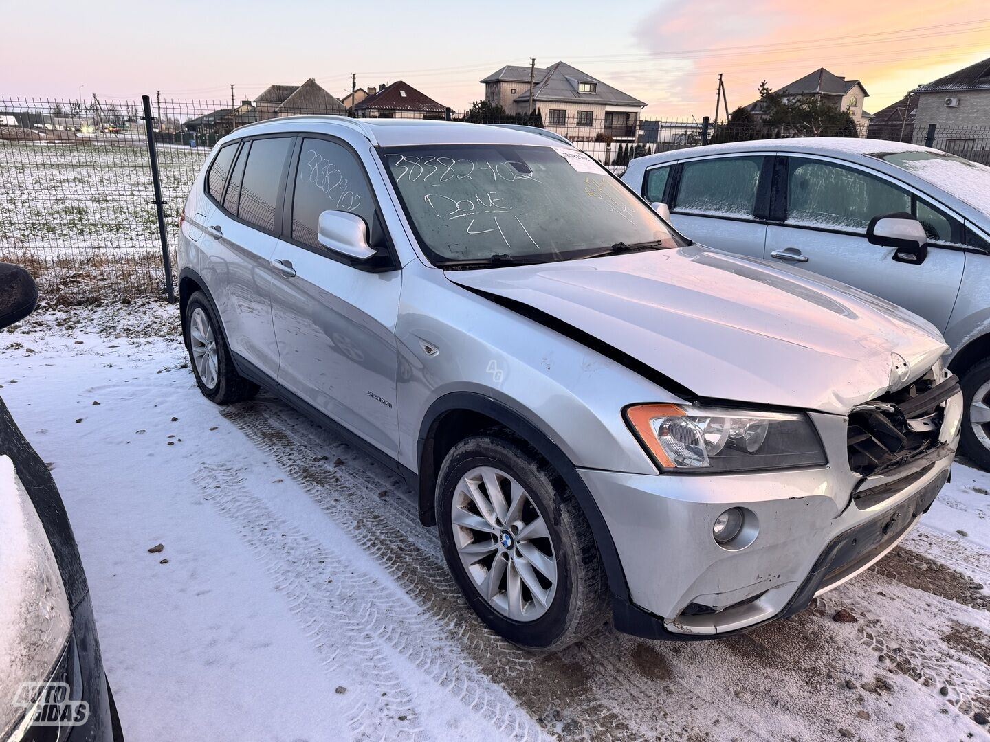
[[[435,265],[546,262],[680,246],[610,173],[569,147],[431,144],[382,158]]]

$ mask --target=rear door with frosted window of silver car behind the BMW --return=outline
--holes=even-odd
[[[670,207],[670,221],[696,242],[763,256],[772,158],[766,153],[700,157],[646,170],[644,198]]]

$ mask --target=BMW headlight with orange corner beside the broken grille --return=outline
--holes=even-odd
[[[626,420],[664,469],[744,472],[821,466],[825,450],[808,416],[726,408],[633,405]]]

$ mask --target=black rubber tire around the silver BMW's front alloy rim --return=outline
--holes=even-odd
[[[540,511],[555,556],[557,582],[545,613],[510,619],[481,596],[453,542],[451,505],[457,484],[471,469],[490,466],[515,479]],[[608,618],[608,581],[591,526],[563,479],[525,441],[507,431],[486,432],[447,453],[437,484],[437,522],[447,565],[464,599],[492,630],[528,649],[559,650],[580,641]]]

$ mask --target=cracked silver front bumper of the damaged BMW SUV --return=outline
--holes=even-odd
[[[938,444],[872,478],[849,469],[846,418],[815,414],[825,467],[704,477],[580,470],[626,575],[629,600],[613,600],[616,628],[648,638],[725,635],[792,615],[867,569],[948,480],[961,395],[940,404]],[[757,523],[744,548],[726,549],[712,537],[728,508],[745,509]]]

